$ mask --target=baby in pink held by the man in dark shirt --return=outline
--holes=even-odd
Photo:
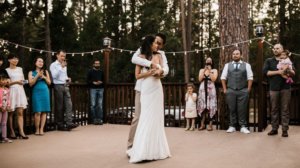
[[[293,69],[293,63],[289,58],[290,52],[288,50],[284,50],[280,55],[279,63],[277,64],[277,69],[282,70],[287,66],[287,69],[283,75],[283,78],[286,79],[286,83],[292,84],[294,83],[293,79],[289,76],[289,70]]]

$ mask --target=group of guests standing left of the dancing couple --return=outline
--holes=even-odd
[[[66,52],[59,50],[56,61],[50,65],[50,72],[46,69],[44,59],[36,57],[33,68],[25,79],[23,69],[18,66],[19,58],[10,53],[7,57],[9,66],[4,68],[4,57],[0,55],[0,141],[11,143],[14,139],[27,140],[24,132],[24,109],[28,102],[24,85],[31,87],[31,105],[34,116],[35,135],[44,135],[47,113],[51,111],[49,86],[53,84],[55,99],[55,119],[57,130],[71,131],[78,124],[73,123],[72,101],[69,91],[71,78],[67,74]],[[103,71],[100,61],[94,60],[93,68],[87,74],[90,85],[91,118],[93,124],[103,123]],[[17,115],[17,133],[14,130],[14,117]],[[8,128],[7,128],[8,126]],[[9,131],[9,135],[8,132]]]

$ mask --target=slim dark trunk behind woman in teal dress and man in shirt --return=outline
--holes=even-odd
[[[49,13],[48,13],[48,0],[44,0],[45,3],[45,8],[44,8],[44,13],[45,13],[45,49],[46,51],[51,51],[51,38],[50,38],[50,26],[49,26]],[[46,67],[49,69],[50,64],[52,62],[51,59],[51,53],[47,52],[46,53]]]

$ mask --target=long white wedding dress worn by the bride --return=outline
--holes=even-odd
[[[165,159],[171,156],[164,128],[163,103],[160,79],[153,76],[143,79],[140,119],[133,146],[127,150],[130,163]]]

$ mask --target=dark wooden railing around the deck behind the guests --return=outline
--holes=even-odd
[[[182,115],[184,111],[184,94],[185,84],[178,83],[164,83],[164,113],[165,113],[165,126],[168,127],[184,127],[185,119]],[[199,85],[196,84],[196,87]],[[299,88],[300,84],[294,84],[292,87],[292,99],[290,104],[290,124],[300,124],[300,111],[299,111]],[[217,96],[222,96],[220,84],[216,84]],[[73,118],[74,122],[81,125],[87,125],[89,123],[89,88],[86,84],[72,84],[70,86],[70,92],[73,102]],[[267,92],[267,85],[263,85],[263,99],[266,102],[264,104],[263,114],[258,114],[258,91],[257,84],[254,83],[252,91],[250,93],[249,108],[248,108],[248,121],[249,126],[254,131],[262,131],[267,126],[270,119],[270,103],[269,95]],[[30,90],[26,88],[26,93],[30,98]],[[47,115],[46,130],[55,130],[55,115],[54,115],[54,96],[51,89],[51,104],[52,111]],[[107,123],[113,124],[130,124],[134,115],[134,84],[109,84],[105,90],[104,100],[104,120]],[[28,98],[28,99],[29,99]],[[63,103],[63,102],[62,102]],[[25,110],[25,128],[26,132],[32,133],[34,131],[33,114],[31,113],[31,106]],[[197,118],[197,124],[199,125],[199,118]],[[226,129],[228,123],[228,113],[225,110],[225,114],[220,115],[216,113],[214,124],[217,129]]]

